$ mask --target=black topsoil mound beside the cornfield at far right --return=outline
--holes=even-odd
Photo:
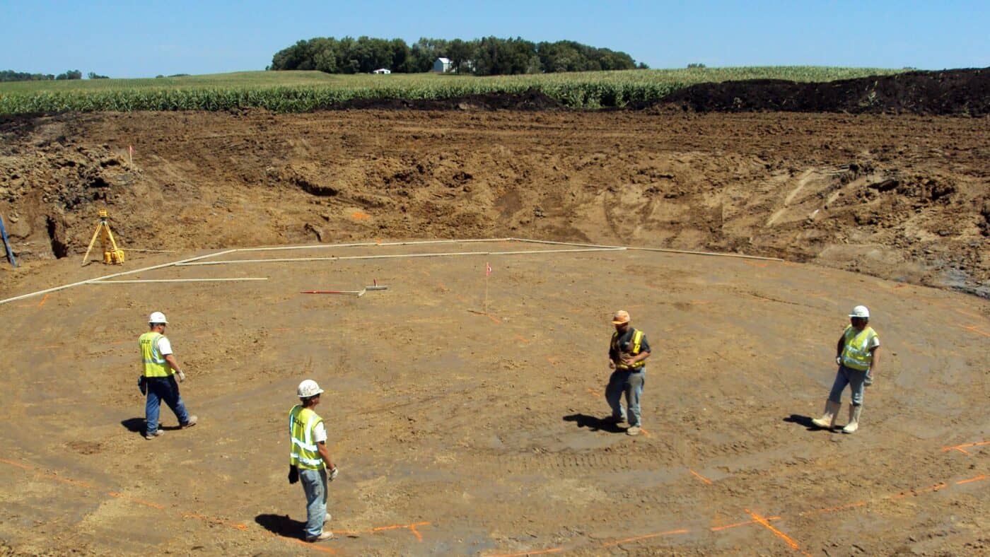
[[[982,117],[990,114],[990,68],[797,83],[774,79],[702,83],[660,103],[693,112],[847,112]],[[643,107],[640,107],[643,108]]]

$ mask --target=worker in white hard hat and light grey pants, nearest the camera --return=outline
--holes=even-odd
[[[323,389],[316,381],[307,379],[299,384],[296,396],[302,404],[289,412],[289,436],[292,452],[289,455],[289,483],[300,479],[306,494],[306,541],[322,541],[334,537],[334,532],[324,529],[330,521],[327,514],[327,482],[337,478],[337,466],[327,450],[327,428],[323,418],[314,409],[320,404]],[[328,470],[330,472],[328,472]]]

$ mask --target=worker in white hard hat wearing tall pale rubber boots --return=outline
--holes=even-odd
[[[853,433],[859,428],[859,417],[863,410],[863,388],[873,381],[872,373],[879,362],[877,349],[880,338],[869,324],[869,310],[866,306],[856,306],[849,314],[850,325],[839,337],[836,345],[836,363],[839,372],[832,386],[829,400],[825,403],[825,415],[812,419],[819,427],[832,429],[836,426],[836,416],[842,407],[842,390],[849,386],[852,404],[849,405],[849,422],[842,427],[843,433]]]

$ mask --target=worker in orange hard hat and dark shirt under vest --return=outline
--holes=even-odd
[[[616,326],[616,331],[612,333],[612,341],[609,343],[609,369],[615,371],[605,388],[605,400],[612,407],[612,416],[608,420],[613,423],[626,420],[627,414],[622,408],[622,396],[625,393],[629,410],[629,428],[626,429],[626,434],[639,435],[643,431],[640,397],[643,396],[649,342],[642,330],[630,325],[629,312],[616,312],[612,316],[612,325]]]

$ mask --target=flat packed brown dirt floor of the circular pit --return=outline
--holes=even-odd
[[[196,262],[341,258],[173,266],[121,278],[267,280],[91,284],[0,306],[0,539],[16,554],[990,550],[990,303],[810,264],[546,249],[575,248],[235,252]],[[445,251],[479,254],[343,258]],[[116,270],[63,259],[46,277]],[[300,294],[375,279],[389,289]],[[817,430],[856,303],[882,367],[857,433]],[[653,348],[638,437],[601,421],[619,308]],[[200,423],[178,430],[163,411],[147,441],[136,338],[152,309]],[[309,549],[285,479],[305,377],[328,390],[318,410],[342,470],[342,537]]]

